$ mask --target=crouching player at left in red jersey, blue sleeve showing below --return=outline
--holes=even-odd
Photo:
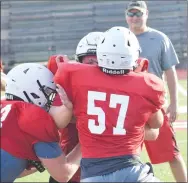
[[[66,157],[59,146],[59,120],[70,105],[51,107],[55,91],[53,74],[40,64],[20,64],[7,74],[5,97],[1,101],[1,182],[13,182],[28,162],[39,171],[44,167],[56,180],[67,182],[77,171],[81,153],[79,144]],[[68,104],[65,101],[65,104]],[[56,115],[55,114],[55,115]],[[56,116],[56,119],[60,116]],[[66,113],[65,120],[70,121]],[[11,130],[10,130],[11,129]]]

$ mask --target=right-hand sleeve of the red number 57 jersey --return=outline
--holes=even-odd
[[[144,77],[147,85],[146,98],[155,106],[154,111],[161,109],[165,103],[164,82],[154,74],[146,73]]]

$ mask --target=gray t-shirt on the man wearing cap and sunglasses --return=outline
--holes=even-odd
[[[140,57],[149,60],[149,72],[162,78],[163,71],[179,63],[170,39],[162,32],[149,28],[136,36],[141,47]]]

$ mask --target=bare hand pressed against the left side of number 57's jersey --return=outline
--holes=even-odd
[[[59,84],[57,84],[56,86],[57,86],[57,89],[56,89],[56,90],[57,90],[57,93],[58,93],[59,96],[60,96],[61,102],[63,103],[63,105],[64,105],[66,108],[72,110],[72,109],[73,109],[72,102],[69,100],[69,98],[68,98],[68,96],[67,96],[65,90],[64,90]]]

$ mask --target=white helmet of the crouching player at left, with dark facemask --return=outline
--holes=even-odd
[[[53,74],[45,66],[24,63],[11,69],[6,78],[7,100],[23,100],[49,110],[53,102],[56,85]]]

